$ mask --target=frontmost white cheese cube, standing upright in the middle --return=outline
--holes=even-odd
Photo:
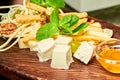
[[[51,67],[57,69],[69,69],[73,62],[70,46],[56,45],[53,50]]]

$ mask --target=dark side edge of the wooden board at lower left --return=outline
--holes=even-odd
[[[35,76],[26,74],[22,71],[15,71],[9,67],[0,64],[0,75],[5,76],[12,80],[38,80]],[[41,79],[42,80],[42,79]]]

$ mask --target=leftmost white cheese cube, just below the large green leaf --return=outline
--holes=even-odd
[[[55,42],[53,38],[44,39],[37,43],[35,51],[38,51],[37,56],[40,62],[52,59],[52,51],[54,46]]]

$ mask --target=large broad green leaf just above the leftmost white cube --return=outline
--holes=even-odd
[[[53,26],[52,23],[47,23],[37,31],[36,39],[37,40],[46,39],[52,37],[57,32],[58,32],[58,28],[56,26]]]

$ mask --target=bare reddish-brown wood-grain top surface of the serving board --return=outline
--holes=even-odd
[[[120,28],[102,20],[89,17],[114,31],[113,37],[120,39]],[[0,39],[0,44],[4,40]],[[0,74],[13,80],[119,80],[119,74],[104,70],[95,58],[88,65],[74,59],[69,70],[50,68],[51,60],[39,62],[35,52],[19,49],[18,45],[0,53]]]

